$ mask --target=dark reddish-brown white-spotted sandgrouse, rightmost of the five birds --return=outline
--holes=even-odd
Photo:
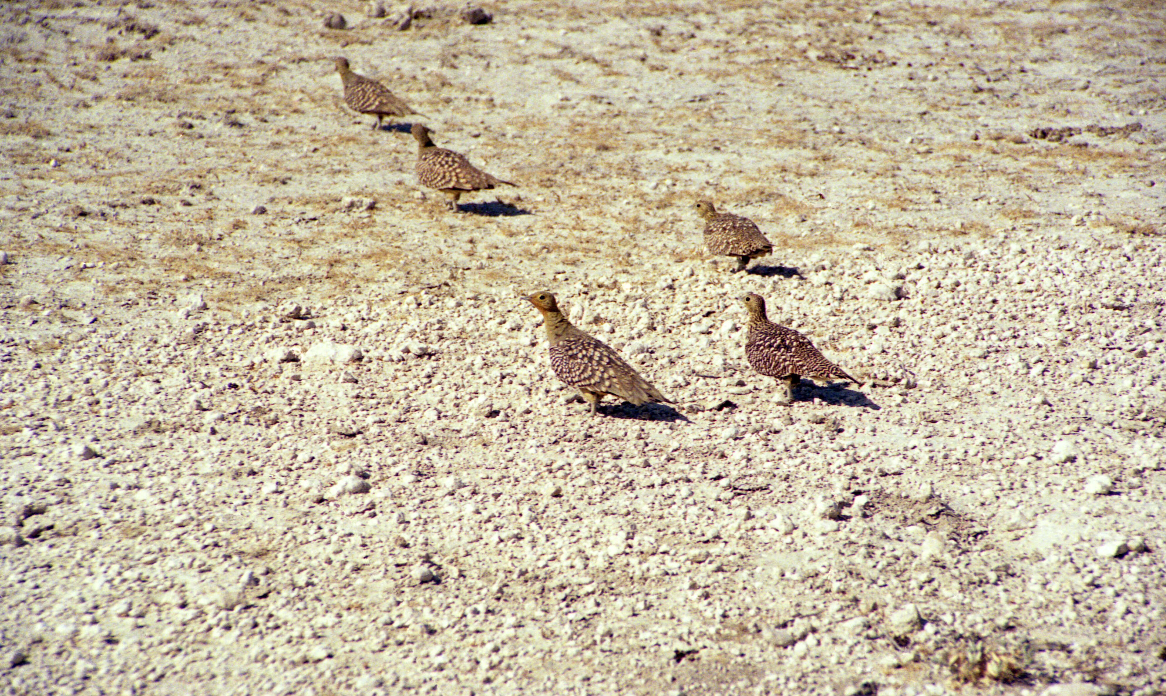
[[[745,358],[753,370],[781,381],[785,403],[793,401],[794,386],[802,377],[823,381],[841,378],[858,384],[858,380],[827,360],[808,338],[771,322],[765,316],[765,300],[760,295],[750,293],[740,301],[749,311]]]

